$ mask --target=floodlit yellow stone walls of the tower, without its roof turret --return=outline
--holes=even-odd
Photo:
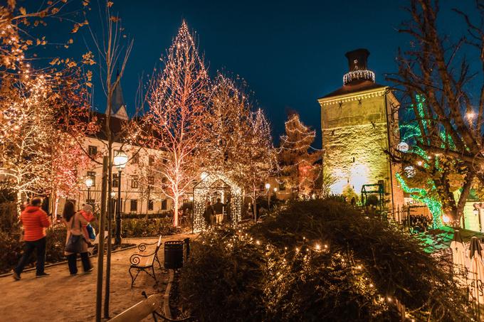
[[[346,102],[320,102],[322,147],[325,150],[323,171],[332,173],[337,181],[332,186],[333,193],[341,193],[349,184],[360,195],[362,185],[384,181],[389,207],[393,181],[396,207],[403,204],[403,192],[394,179],[396,168],[391,168],[384,150],[388,149],[389,139],[392,146],[398,142],[395,143],[396,139],[392,135],[389,137],[388,133],[388,97],[382,90],[379,93],[366,98],[354,97]],[[393,125],[390,124],[390,128]]]

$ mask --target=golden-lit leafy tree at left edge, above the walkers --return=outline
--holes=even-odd
[[[64,5],[53,1],[29,12],[16,1],[0,7],[0,161],[19,203],[27,195],[74,192],[67,185],[77,186],[71,174],[83,161],[64,161],[79,149],[70,144],[73,138],[92,129],[85,121],[91,75],[83,73],[85,62],[54,58],[42,69],[30,63],[36,56],[29,49],[47,41],[43,37],[34,45],[26,30],[45,25]]]

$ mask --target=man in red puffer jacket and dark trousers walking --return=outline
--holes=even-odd
[[[25,240],[25,250],[19,264],[14,269],[14,279],[19,280],[23,267],[28,263],[33,250],[37,250],[36,277],[45,277],[48,273],[43,272],[46,264],[46,228],[51,225],[45,211],[41,209],[42,199],[33,198],[20,215],[23,225],[23,240]]]

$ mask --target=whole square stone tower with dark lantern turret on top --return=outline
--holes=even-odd
[[[389,87],[375,83],[367,69],[369,51],[346,53],[349,72],[343,86],[318,99],[321,105],[323,171],[335,180],[332,193],[353,188],[361,195],[364,184],[382,183],[386,205],[403,205],[404,196],[395,178],[396,166],[384,153],[399,143],[399,105]]]

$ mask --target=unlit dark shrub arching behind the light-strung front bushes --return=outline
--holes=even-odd
[[[330,254],[350,253],[385,298],[431,320],[469,318],[466,294],[414,238],[386,221],[369,218],[328,200],[293,203],[261,225],[254,236],[278,247],[328,245]],[[357,267],[359,264],[352,266]]]

